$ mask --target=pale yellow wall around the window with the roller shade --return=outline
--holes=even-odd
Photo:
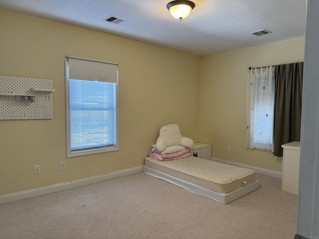
[[[54,119],[0,120],[0,195],[141,166],[165,124],[198,139],[199,57],[1,9],[0,32],[0,75],[55,89]],[[120,151],[66,158],[66,55],[119,63]]]

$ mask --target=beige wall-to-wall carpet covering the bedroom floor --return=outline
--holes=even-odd
[[[260,188],[227,205],[145,173],[0,205],[0,239],[293,239],[297,195]]]

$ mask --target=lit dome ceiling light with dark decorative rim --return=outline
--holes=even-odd
[[[175,0],[167,3],[166,7],[173,17],[181,21],[182,18],[190,14],[191,10],[195,7],[195,3],[187,0]]]

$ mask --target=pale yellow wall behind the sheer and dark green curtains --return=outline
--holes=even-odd
[[[199,138],[213,145],[213,157],[282,171],[281,158],[245,148],[247,68],[302,62],[304,48],[299,37],[201,57]]]

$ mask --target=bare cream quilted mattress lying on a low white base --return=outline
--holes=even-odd
[[[146,157],[145,166],[222,194],[255,181],[254,170],[193,156],[169,161]]]

